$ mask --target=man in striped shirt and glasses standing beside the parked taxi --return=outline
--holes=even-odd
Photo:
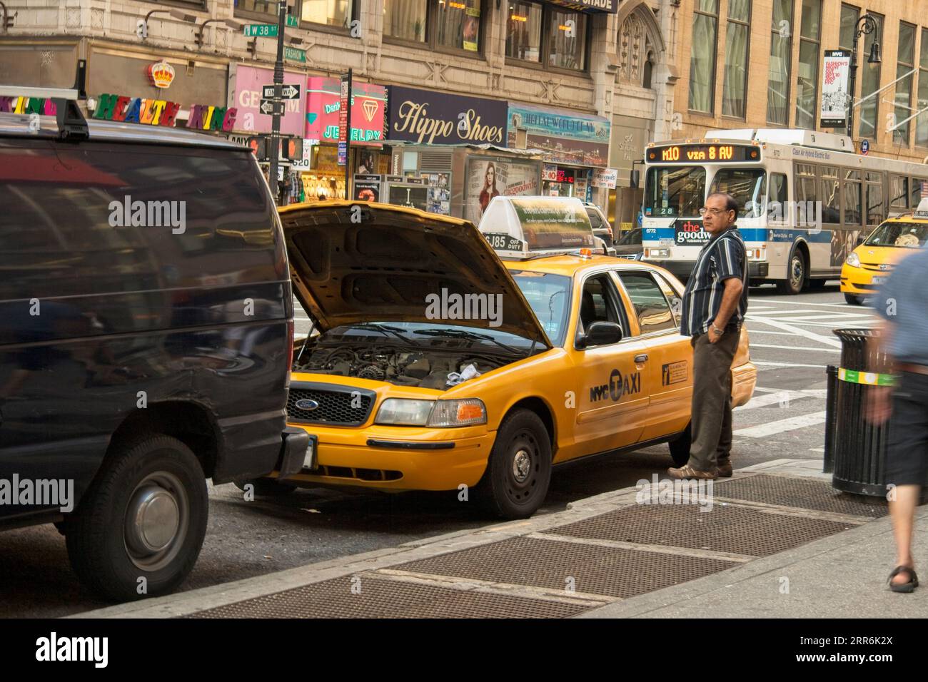
[[[683,292],[680,333],[692,337],[690,461],[667,473],[678,479],[731,475],[731,362],[748,309],[748,264],[735,226],[738,202],[710,194],[700,209],[711,235]]]

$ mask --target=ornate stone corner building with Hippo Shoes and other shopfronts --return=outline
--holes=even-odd
[[[355,87],[370,86],[361,93],[370,103],[358,109],[358,117],[367,116],[379,98],[385,109],[393,105],[383,119],[382,136],[374,130],[376,118],[354,129],[353,106],[357,148],[350,163],[355,174],[402,177],[395,184],[413,197],[419,196],[413,191],[417,187],[409,187],[415,183],[408,180],[452,173],[450,182],[447,177],[439,182],[454,186],[452,194],[473,195],[473,187],[485,189],[491,176],[495,182],[500,169],[487,171],[483,159],[481,182],[464,177],[477,173],[478,166],[470,169],[465,161],[452,168],[456,161],[447,145],[537,148],[540,174],[534,187],[513,165],[518,187],[580,196],[606,208],[616,222],[633,219],[640,195],[628,187],[632,162],[662,132],[655,130],[657,112],[667,110],[674,95],[674,67],[667,62],[664,38],[671,14],[678,11],[674,0],[290,4],[285,83],[299,85],[301,95],[288,101],[283,130],[303,135],[314,148],[303,162],[303,190],[329,196],[344,191],[343,167],[334,144],[327,144],[334,142],[333,131],[319,122],[337,109],[333,79],[350,68]],[[232,135],[269,131],[271,118],[260,110],[260,85],[271,83],[277,38],[244,25],[276,24],[274,2],[11,0],[6,6],[15,20],[0,35],[0,83],[70,86],[77,60],[86,59],[88,104],[97,105],[101,95],[138,97],[143,105],[160,97],[180,103],[182,117],[194,104],[203,111],[235,109],[234,116],[225,116],[226,133]],[[152,70],[169,74],[170,83],[157,85]],[[389,101],[391,89],[402,94],[402,101]],[[353,95],[359,97],[356,89]],[[432,99],[441,99],[442,105]],[[477,103],[470,114],[469,100]],[[493,106],[500,101],[504,109]],[[403,102],[411,103],[406,119],[413,109],[419,118],[406,121],[406,130],[400,131],[397,126],[404,123],[398,122],[397,111]],[[431,109],[422,109],[423,104]],[[459,115],[468,118],[464,128]],[[204,115],[203,121],[208,119],[218,130],[216,117]],[[419,132],[423,125],[443,130],[450,125],[466,135],[409,135],[416,125]],[[493,135],[499,127],[507,132],[503,138]],[[505,159],[506,153],[497,156]],[[609,173],[601,173],[608,168],[618,171],[612,181]],[[308,177],[312,184],[306,184]],[[445,195],[435,191],[427,196],[441,201]],[[466,212],[465,204],[474,200],[458,196],[454,212]]]

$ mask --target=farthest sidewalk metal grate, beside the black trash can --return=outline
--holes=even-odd
[[[885,500],[841,493],[832,488],[831,483],[827,481],[770,476],[763,473],[715,481],[715,495],[873,519],[885,516],[888,512]]]

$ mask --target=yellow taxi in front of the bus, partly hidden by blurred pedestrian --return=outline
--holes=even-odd
[[[844,261],[841,290],[844,300],[860,305],[880,289],[893,267],[928,240],[928,199],[918,211],[884,220]]]

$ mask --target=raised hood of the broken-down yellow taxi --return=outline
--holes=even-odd
[[[320,331],[424,322],[551,345],[522,290],[469,221],[343,200],[292,204],[279,213],[294,293]]]

